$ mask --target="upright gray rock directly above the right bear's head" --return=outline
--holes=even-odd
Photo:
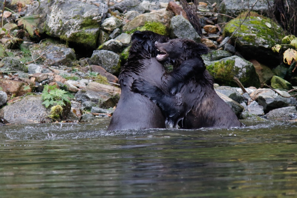
[[[171,19],[170,35],[172,38],[187,38],[200,42],[201,38],[191,23],[181,15]]]

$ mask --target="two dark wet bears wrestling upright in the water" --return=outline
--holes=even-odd
[[[108,130],[242,126],[214,91],[201,58],[208,48],[189,39],[135,31],[121,69],[121,97]],[[173,65],[167,72],[163,64]]]

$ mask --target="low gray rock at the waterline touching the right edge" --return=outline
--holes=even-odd
[[[289,120],[290,114],[297,114],[296,107],[283,107],[269,111],[265,116],[266,118],[277,120]]]

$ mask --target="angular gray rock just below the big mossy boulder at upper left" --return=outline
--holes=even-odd
[[[45,58],[45,62],[48,65],[70,66],[75,61],[75,52],[72,48],[64,47],[63,45],[50,45],[46,47]]]

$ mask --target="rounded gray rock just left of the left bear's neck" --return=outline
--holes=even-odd
[[[108,50],[95,50],[91,56],[93,64],[102,66],[107,72],[117,74],[120,66],[120,56]]]

